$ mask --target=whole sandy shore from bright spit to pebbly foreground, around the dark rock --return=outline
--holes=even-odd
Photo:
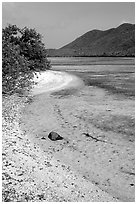
[[[133,143],[115,133],[110,138],[86,120],[91,113],[97,119],[98,110],[115,112],[117,104],[96,88],[89,102],[88,88],[69,74],[48,71],[37,82],[33,96],[3,99],[3,201],[133,200],[133,175],[126,173]],[[124,104],[117,111],[128,110]],[[49,140],[50,131],[64,139]]]

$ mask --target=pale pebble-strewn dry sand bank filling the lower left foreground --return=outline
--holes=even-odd
[[[114,202],[20,129],[23,99],[3,101],[3,202]]]

